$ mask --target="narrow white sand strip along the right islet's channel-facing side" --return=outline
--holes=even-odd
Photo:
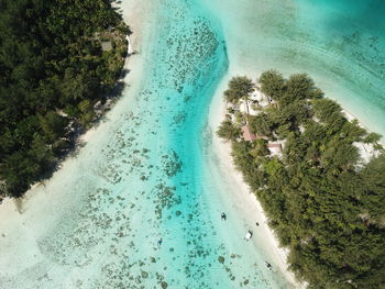
[[[278,269],[285,280],[294,288],[306,288],[306,286],[296,279],[294,273],[288,270],[288,264],[286,262],[287,249],[279,247],[274,231],[267,225],[268,219],[261,203],[256,196],[250,191],[249,185],[243,180],[243,175],[234,167],[231,156],[231,144],[221,140],[216,134],[218,125],[226,115],[226,103],[222,97],[223,88],[227,87],[228,80],[232,75],[232,71],[228,73],[218,87],[210,104],[208,119],[212,132],[212,153],[219,159],[218,170],[220,170],[224,179],[232,184],[232,188],[224,193],[232,194],[231,197],[237,199],[238,204],[235,207],[238,208],[235,210],[238,210],[238,213],[241,214],[240,218],[244,219],[246,223],[255,227],[255,221],[258,221],[260,226],[255,230],[257,237],[253,238],[253,243],[258,251],[262,251],[271,258],[270,260],[273,267],[275,267],[273,271]]]

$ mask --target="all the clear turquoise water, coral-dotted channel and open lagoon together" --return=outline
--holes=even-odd
[[[229,69],[308,71],[385,130],[381,1],[156,4],[145,77],[47,185],[61,197],[26,208],[0,238],[0,288],[288,288],[264,268],[268,252],[242,241],[245,224],[218,193],[228,186],[207,118]]]

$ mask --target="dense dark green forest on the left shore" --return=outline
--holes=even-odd
[[[127,34],[108,0],[0,0],[0,199],[52,171],[95,120]]]

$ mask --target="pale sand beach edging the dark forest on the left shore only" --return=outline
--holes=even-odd
[[[124,79],[125,89],[133,91],[141,85],[145,62],[140,53],[142,46],[139,43],[143,43],[145,37],[151,37],[147,27],[153,25],[152,21],[156,21],[151,16],[154,11],[151,7],[150,1],[125,0],[122,4],[123,18],[134,31],[130,38],[131,45],[135,52],[139,52],[127,58],[124,65],[124,68],[130,70]],[[119,120],[121,113],[127,110],[128,103],[134,101],[134,95],[124,92],[124,97],[118,100],[117,105],[106,114],[106,121],[80,136],[79,141],[85,147],[80,149],[78,156],[67,157],[52,178],[34,185],[20,201],[20,205],[15,205],[15,201],[8,198],[0,204],[0,279],[2,274],[16,276],[23,269],[44,262],[36,240],[50,232],[50,227],[58,222],[63,214],[67,214],[73,207],[76,207],[77,192],[73,190],[68,193],[67,184],[70,182],[74,174],[81,173],[87,159],[91,158],[92,151],[98,152],[92,147],[100,145],[102,137],[108,135],[111,123]],[[81,176],[81,184],[78,184],[79,190],[82,186],[94,186],[92,178],[87,175]]]

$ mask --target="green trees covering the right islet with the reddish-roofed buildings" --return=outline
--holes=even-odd
[[[252,80],[226,91],[229,114],[218,134],[231,140],[237,167],[262,202],[288,262],[308,288],[384,288],[385,154],[381,136],[348,121],[305,74],[258,79],[265,103],[245,97]],[[249,92],[248,92],[249,93]],[[250,93],[249,93],[250,96]],[[256,113],[239,111],[249,102]],[[267,140],[244,141],[248,123]],[[273,156],[268,143],[285,143]],[[372,148],[369,163],[359,147]]]

